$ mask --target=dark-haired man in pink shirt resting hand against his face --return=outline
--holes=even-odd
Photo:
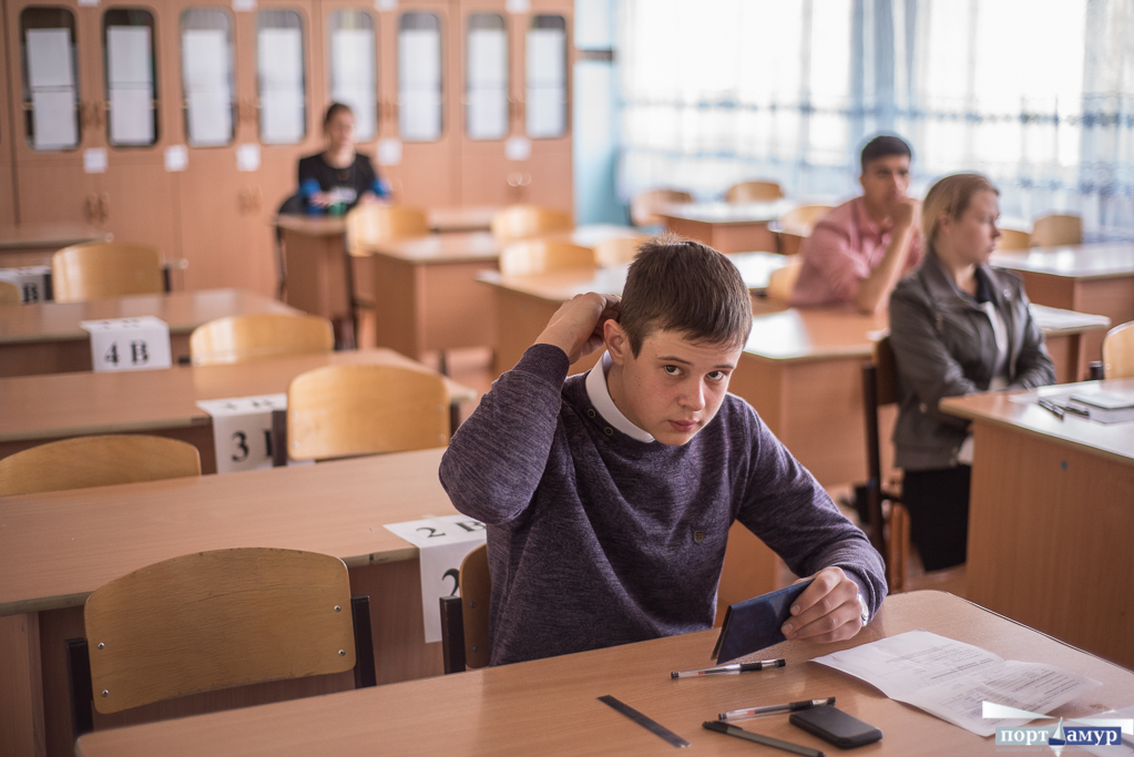
[[[898,279],[917,267],[920,204],[906,196],[909,159],[899,137],[874,137],[862,148],[863,194],[824,215],[803,241],[793,305],[852,304],[874,313]]]

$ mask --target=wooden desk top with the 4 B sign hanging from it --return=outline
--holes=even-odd
[[[0,306],[0,345],[88,339],[79,321],[153,315],[174,334],[229,315],[297,313],[268,297],[240,289],[204,289],[168,295],[132,295],[87,303],[31,303]]]

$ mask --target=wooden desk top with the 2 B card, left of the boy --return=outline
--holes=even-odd
[[[414,559],[382,525],[456,512],[437,476],[443,452],[0,497],[0,615],[78,605],[202,550],[311,550],[350,567]]]

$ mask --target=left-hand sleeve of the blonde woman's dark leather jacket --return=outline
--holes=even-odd
[[[894,291],[890,297],[890,346],[900,381],[936,420],[966,428],[967,420],[941,412],[938,402],[945,397],[960,397],[980,390],[965,377],[960,364],[946,349],[934,323],[934,314],[928,304],[908,289]]]

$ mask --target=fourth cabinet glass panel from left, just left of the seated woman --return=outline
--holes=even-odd
[[[260,141],[291,145],[307,135],[303,77],[303,19],[294,10],[256,14]]]

